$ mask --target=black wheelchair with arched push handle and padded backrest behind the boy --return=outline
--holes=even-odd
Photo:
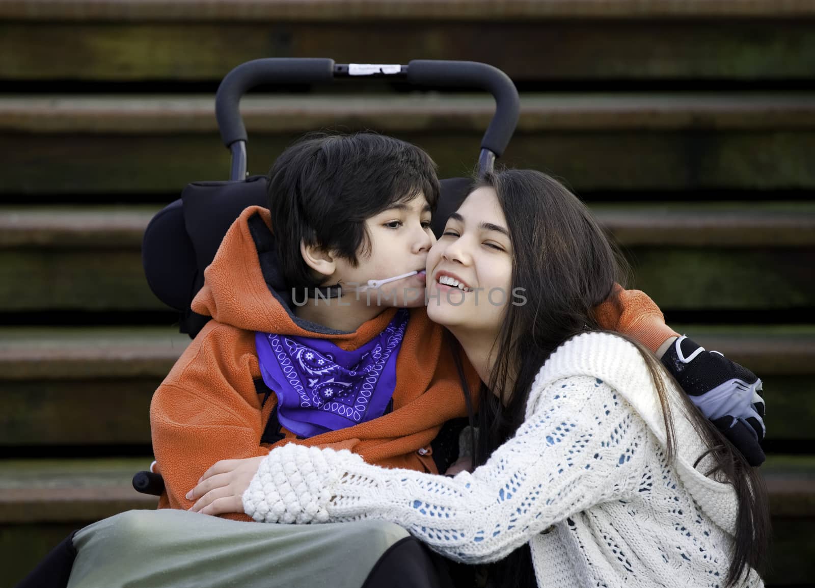
[[[161,302],[179,312],[182,333],[195,338],[209,321],[209,316],[192,312],[190,305],[204,285],[204,270],[214,259],[227,229],[248,206],[266,204],[267,177],[247,177],[248,137],[240,116],[240,98],[261,84],[331,84],[340,79],[371,77],[412,86],[490,92],[496,99],[496,111],[482,137],[479,175],[493,169],[518,123],[518,91],[505,73],[487,64],[443,60],[412,60],[407,65],[335,64],[330,59],[270,58],[239,65],[223,78],[215,95],[218,130],[231,152],[230,179],[190,183],[178,200],[152,218],[144,232],[142,264],[148,285]],[[437,237],[469,192],[470,183],[469,178],[441,180],[441,196],[433,219]],[[271,263],[275,260],[271,259]],[[164,480],[152,471],[139,471],[134,475],[133,487],[140,493],[160,496]]]

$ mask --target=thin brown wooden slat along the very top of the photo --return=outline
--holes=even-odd
[[[6,0],[13,20],[502,20],[527,18],[790,17],[810,0]]]

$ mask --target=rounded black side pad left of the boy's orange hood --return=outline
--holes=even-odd
[[[142,267],[156,298],[183,312],[196,276],[196,252],[184,230],[181,199],[156,213],[144,231]]]

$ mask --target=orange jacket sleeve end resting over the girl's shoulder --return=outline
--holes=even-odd
[[[656,303],[641,290],[623,290],[615,285],[608,300],[594,309],[594,316],[601,329],[628,335],[654,353],[668,338],[679,337],[665,324]]]

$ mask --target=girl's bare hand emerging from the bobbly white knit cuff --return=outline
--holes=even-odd
[[[243,513],[241,497],[249,488],[249,482],[258,471],[260,462],[266,458],[222,459],[205,471],[195,488],[187,493],[187,500],[196,500],[190,511],[204,515]]]

